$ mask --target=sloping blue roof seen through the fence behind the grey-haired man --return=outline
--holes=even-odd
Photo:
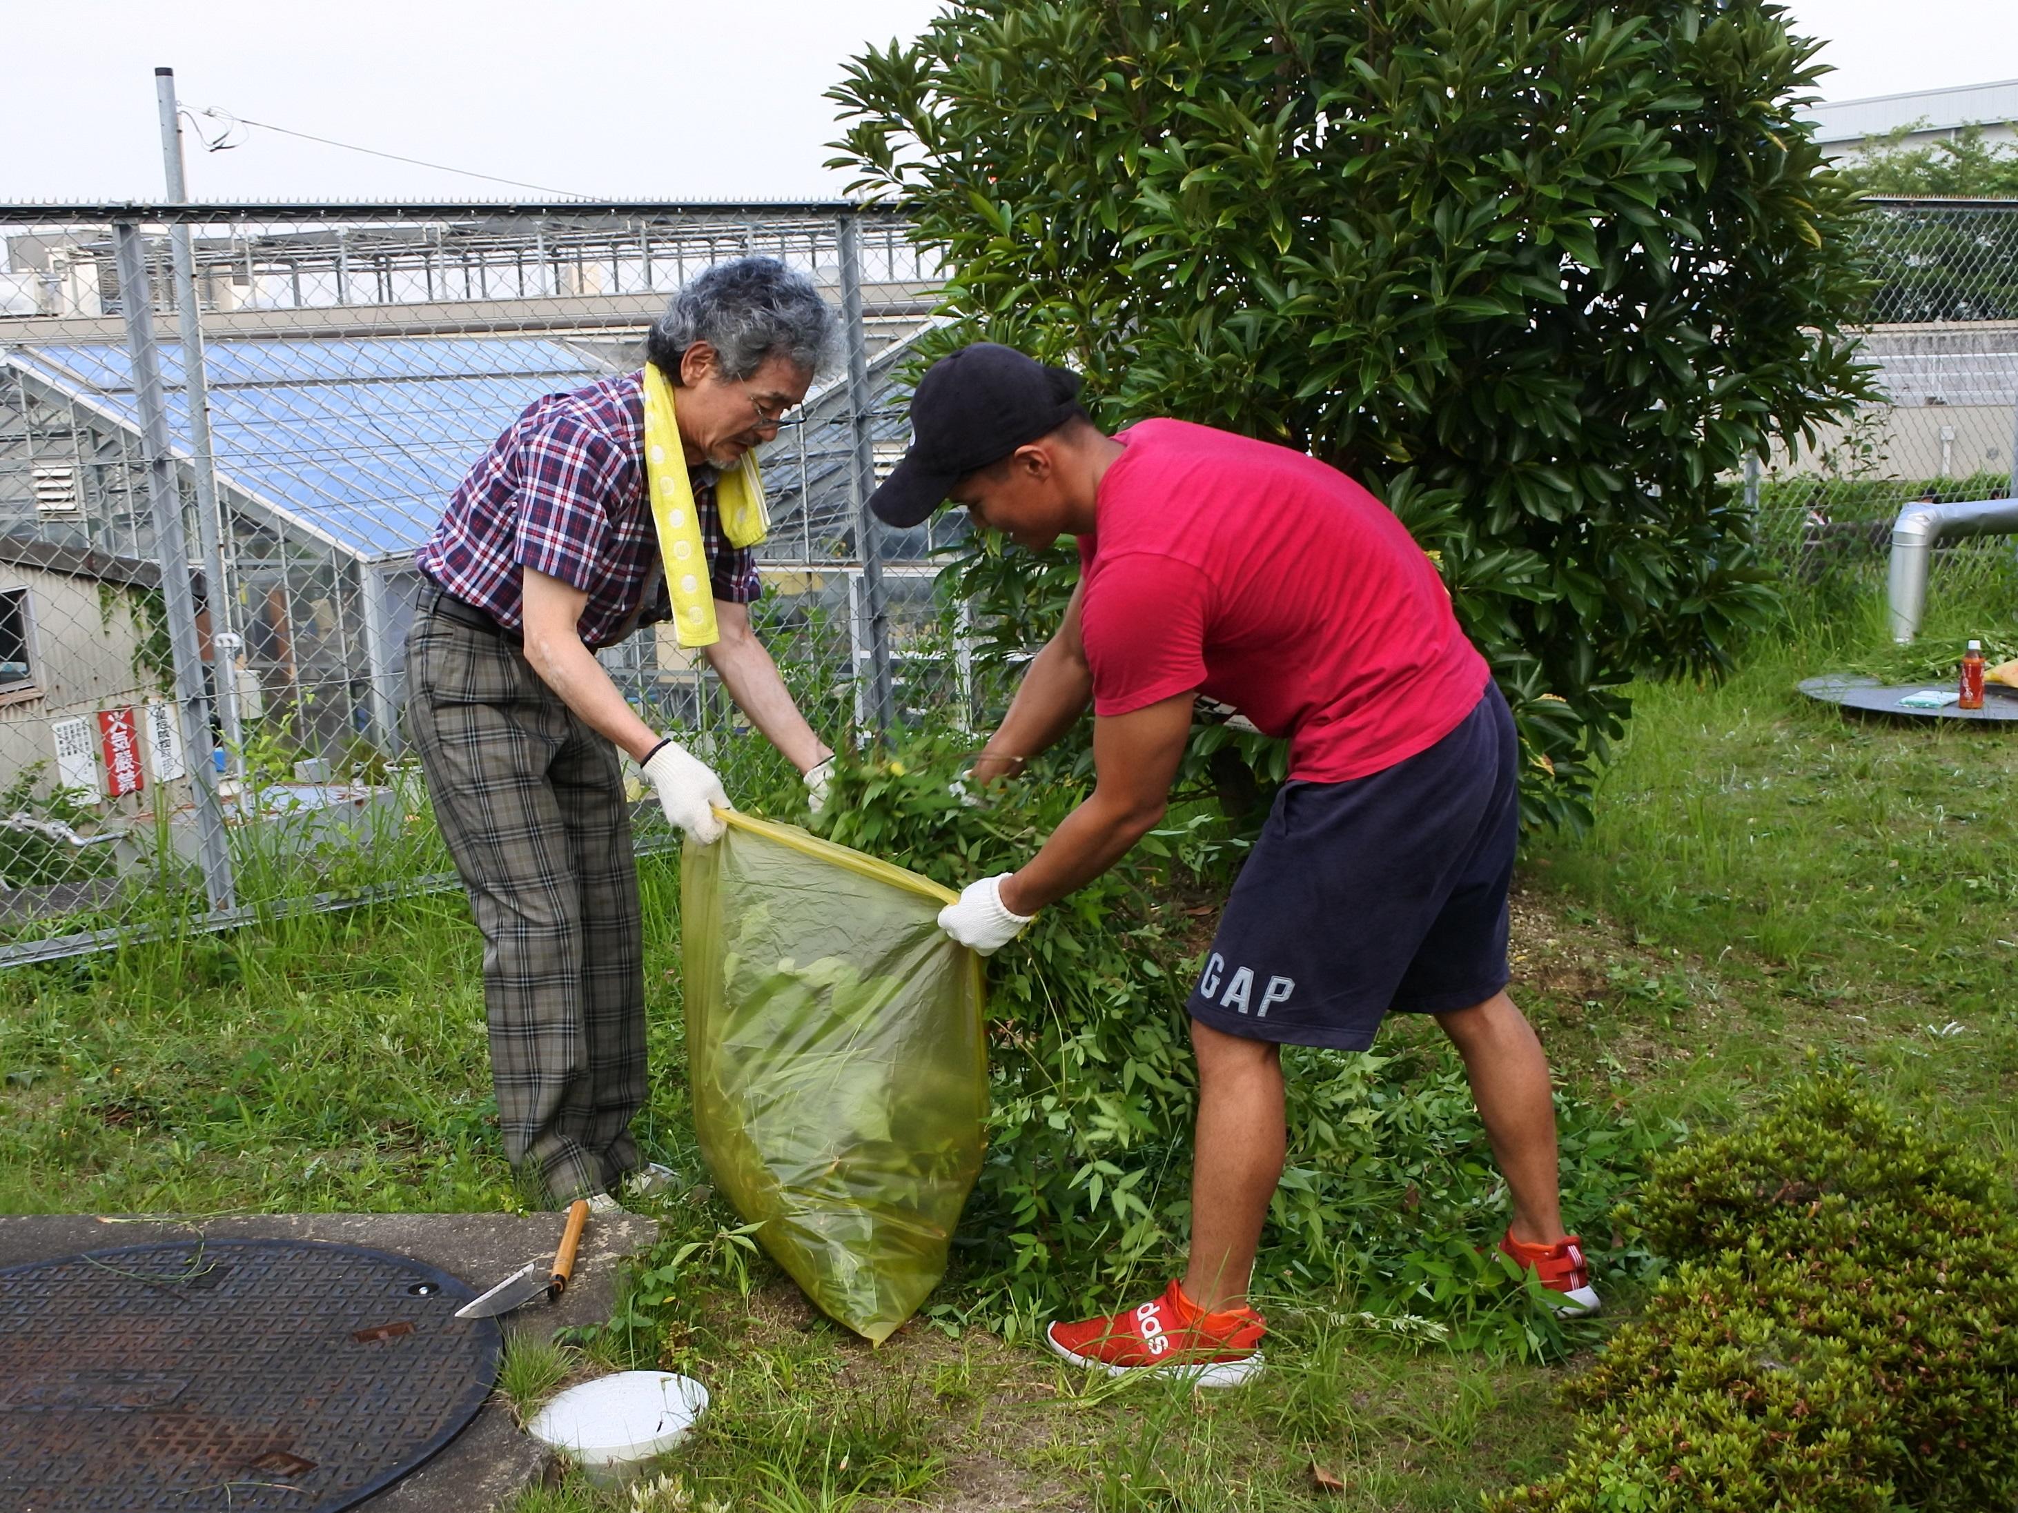
[[[139,426],[125,347],[24,347],[14,357]],[[418,547],[521,410],[605,371],[537,337],[212,341],[204,369],[218,472],[367,559]],[[174,343],[161,347],[161,381],[174,444],[188,450]]]

